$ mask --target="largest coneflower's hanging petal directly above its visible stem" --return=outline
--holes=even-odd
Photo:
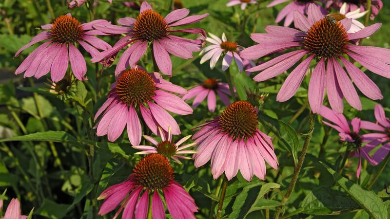
[[[325,95],[325,61],[321,58],[317,66],[315,66],[312,77],[309,82],[309,103],[313,113],[317,113],[321,109],[322,101]]]

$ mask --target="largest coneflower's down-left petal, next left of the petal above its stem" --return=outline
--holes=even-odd
[[[276,101],[284,102],[290,99],[296,93],[296,91],[298,91],[298,88],[302,83],[303,77],[308,71],[313,58],[314,55],[309,56],[303,62],[301,62],[294,70],[292,70],[292,72],[284,81],[279,92],[277,93]]]

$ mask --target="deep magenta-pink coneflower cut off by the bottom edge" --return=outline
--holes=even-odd
[[[152,194],[152,203],[149,203],[149,196]],[[172,218],[195,219],[194,213],[198,208],[194,199],[183,186],[175,182],[172,166],[161,154],[149,154],[144,157],[125,182],[104,190],[98,197],[98,200],[104,199],[99,215],[103,216],[113,211],[124,201],[114,219],[122,210],[122,219],[146,219],[149,204],[152,204],[154,219],[165,219],[165,209],[160,194],[163,194]],[[141,198],[138,200],[139,197]]]

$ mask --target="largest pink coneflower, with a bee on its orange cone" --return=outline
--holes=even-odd
[[[378,86],[359,68],[344,58],[344,55],[349,55],[371,72],[390,78],[389,49],[357,46],[350,43],[371,36],[380,28],[381,23],[372,24],[357,33],[348,34],[351,19],[343,19],[333,24],[321,14],[314,4],[309,6],[308,14],[308,18],[299,12],[294,14],[295,25],[301,31],[288,27],[267,26],[265,30],[268,33],[251,35],[252,39],[259,44],[241,52],[240,55],[247,59],[260,58],[288,48],[300,48],[248,69],[248,72],[263,71],[257,74],[254,80],[265,81],[275,77],[290,69],[308,54],[288,75],[276,96],[277,101],[286,101],[295,94],[313,59],[318,61],[309,83],[309,103],[313,112],[320,110],[325,88],[333,110],[343,112],[343,96],[353,108],[361,110],[359,96],[351,79],[357,88],[370,99],[382,99],[383,96]],[[339,60],[344,64],[351,79],[345,73]]]

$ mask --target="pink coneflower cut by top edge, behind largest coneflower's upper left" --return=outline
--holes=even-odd
[[[290,1],[290,0],[273,0],[267,5],[267,7],[273,7],[277,4]],[[276,16],[275,23],[279,23],[284,19],[283,26],[288,27],[294,21],[294,11],[298,11],[301,14],[307,14],[310,4],[315,4],[323,15],[328,14],[325,8],[317,4],[314,0],[292,0],[292,2],[284,7]]]

